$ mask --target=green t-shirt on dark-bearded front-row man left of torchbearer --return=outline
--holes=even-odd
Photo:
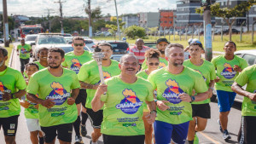
[[[32,75],[26,92],[37,95],[42,100],[55,99],[55,106],[51,108],[39,105],[38,115],[41,126],[49,127],[59,124],[73,123],[78,118],[75,104],[68,105],[67,98],[72,89],[80,87],[75,72],[63,68],[61,77],[55,77],[45,68]]]

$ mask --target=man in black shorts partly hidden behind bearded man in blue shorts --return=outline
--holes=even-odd
[[[198,144],[198,137],[195,132],[205,130],[207,126],[207,118],[211,118],[210,98],[214,87],[214,79],[216,78],[215,67],[211,62],[201,59],[201,54],[205,53],[202,43],[198,40],[192,41],[189,44],[189,54],[191,58],[185,60],[183,66],[199,72],[205,79],[208,87],[208,97],[205,101],[192,102],[192,118],[189,122],[189,144]],[[195,95],[195,94],[194,94]]]

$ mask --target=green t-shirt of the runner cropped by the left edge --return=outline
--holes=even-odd
[[[0,118],[9,118],[20,114],[19,99],[3,101],[3,92],[15,93],[26,89],[26,82],[21,73],[15,69],[7,68],[0,72]]]

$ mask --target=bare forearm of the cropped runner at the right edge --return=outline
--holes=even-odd
[[[256,94],[250,93],[244,89],[241,88],[241,85],[237,84],[236,82],[234,82],[234,84],[232,84],[231,89],[236,92],[236,94],[238,95],[243,95],[246,96],[247,98],[251,99],[252,101],[256,101]]]

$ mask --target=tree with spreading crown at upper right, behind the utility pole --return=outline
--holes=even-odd
[[[211,14],[212,16],[221,17],[228,24],[230,30],[230,41],[232,34],[232,26],[236,21],[237,17],[244,16],[248,10],[251,9],[255,0],[249,0],[248,2],[242,2],[237,4],[234,8],[220,8],[219,3],[214,3],[211,5]],[[229,6],[230,0],[228,0],[227,5]],[[195,9],[195,12],[198,14],[203,14],[203,7]]]

